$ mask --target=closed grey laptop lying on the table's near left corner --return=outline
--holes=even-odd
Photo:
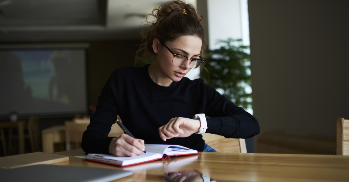
[[[0,170],[0,182],[109,182],[132,174],[118,169],[42,164]]]

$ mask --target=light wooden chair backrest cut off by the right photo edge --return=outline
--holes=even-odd
[[[349,156],[349,120],[336,119],[336,154]]]

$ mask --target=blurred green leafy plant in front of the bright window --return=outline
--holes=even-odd
[[[241,39],[220,43],[221,48],[207,52],[203,66],[208,72],[201,70],[200,76],[237,106],[252,108],[252,91],[245,89],[251,86],[250,54],[244,52],[249,46],[242,46]]]

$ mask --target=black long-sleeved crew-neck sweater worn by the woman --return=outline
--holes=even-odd
[[[108,137],[117,115],[125,127],[136,137],[149,144],[177,144],[202,151],[202,135],[171,138],[164,142],[158,128],[174,117],[193,118],[205,113],[207,133],[226,138],[250,138],[259,134],[258,121],[243,108],[237,107],[203,79],[183,77],[171,86],[156,84],[148,74],[146,65],[120,67],[114,70],[98,97],[96,112],[82,137],[86,153],[109,153]]]

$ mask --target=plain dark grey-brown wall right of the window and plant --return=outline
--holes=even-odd
[[[335,138],[349,118],[349,1],[248,0],[261,133]]]

